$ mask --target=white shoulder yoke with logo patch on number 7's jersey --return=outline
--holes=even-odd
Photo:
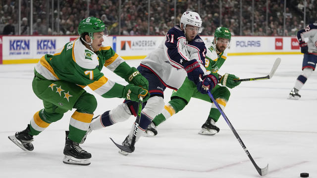
[[[97,54],[83,45],[79,39],[74,42],[73,60],[85,69],[95,69],[99,65]]]

